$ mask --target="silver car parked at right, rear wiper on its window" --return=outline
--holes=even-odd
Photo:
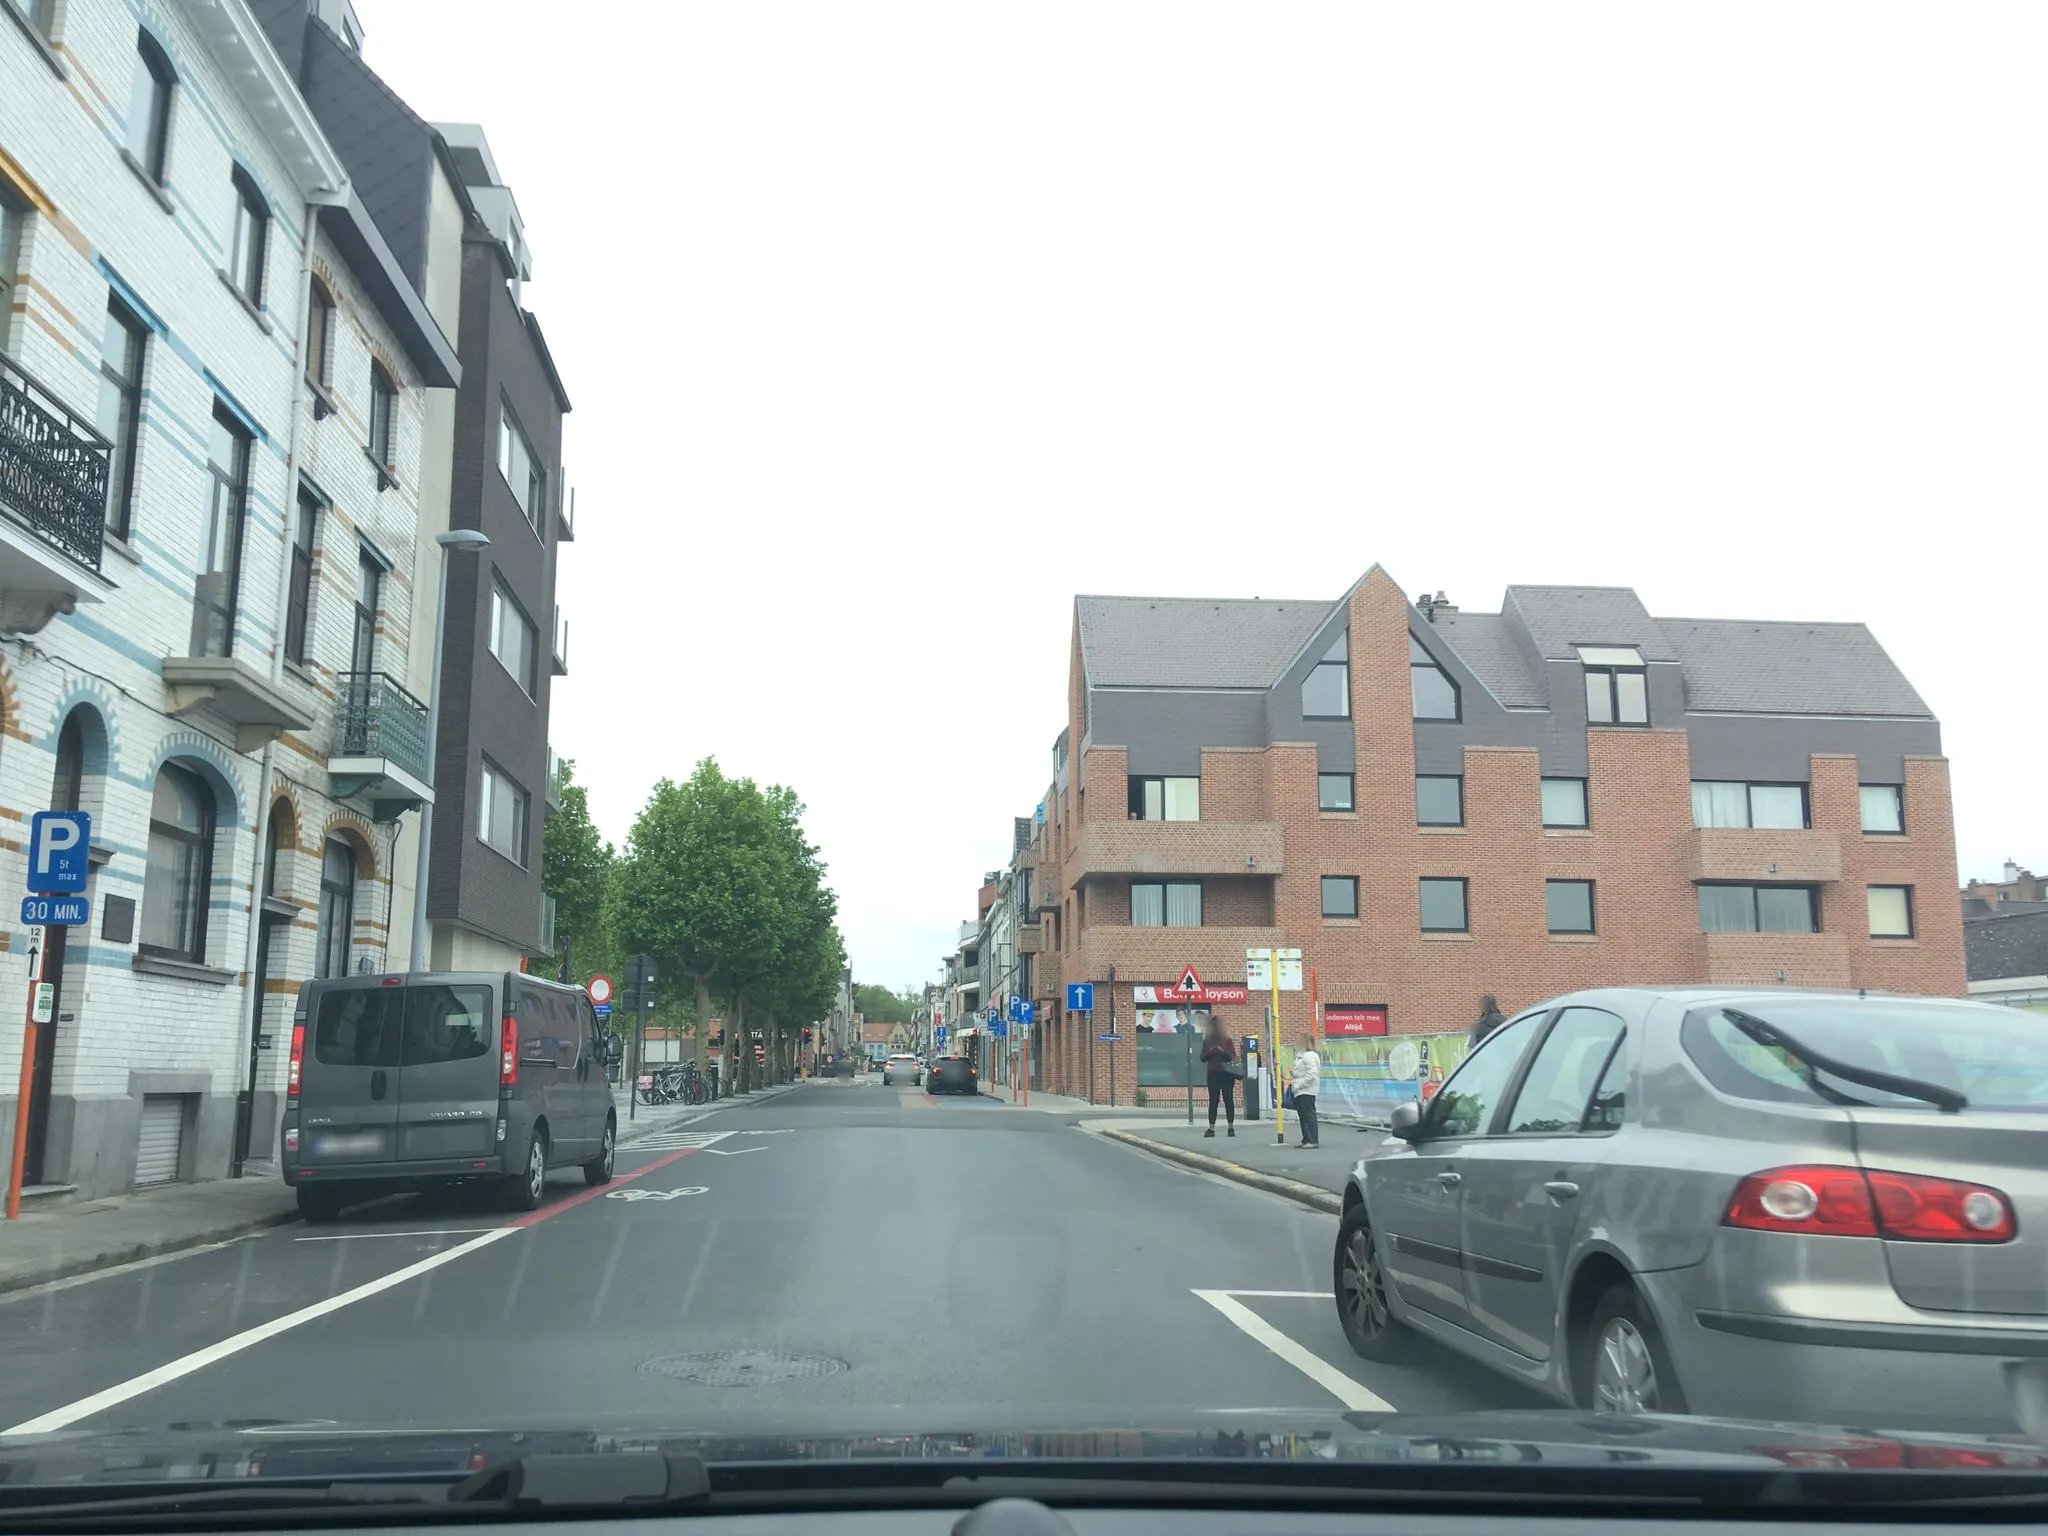
[[[2048,1018],[1583,991],[1352,1169],[1352,1348],[1425,1333],[1587,1409],[2013,1423],[2048,1393]]]

